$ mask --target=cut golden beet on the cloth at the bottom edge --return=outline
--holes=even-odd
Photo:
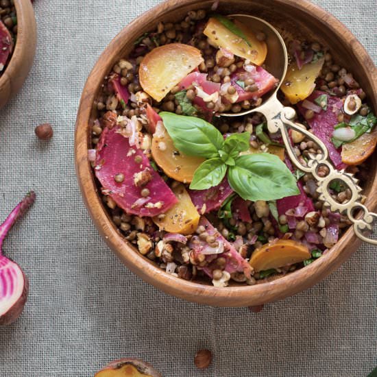
[[[161,377],[161,374],[138,358],[121,358],[101,369],[95,377]]]

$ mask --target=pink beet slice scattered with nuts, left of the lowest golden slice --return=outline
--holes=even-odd
[[[247,263],[247,260],[242,258],[242,256],[236,252],[236,249],[232,246],[230,242],[228,242],[218,231],[215,229],[212,224],[206,219],[206,217],[202,216],[200,217],[199,226],[204,226],[206,228],[206,232],[210,236],[215,236],[216,241],[219,242],[219,244],[223,243],[224,246],[224,252],[221,254],[209,254],[207,255],[207,258],[213,262],[217,258],[220,258],[221,256],[223,258],[226,258],[226,267],[225,271],[228,271],[229,273],[233,272],[243,272],[245,273],[245,276],[247,278],[250,278],[251,276],[251,267],[249,263]],[[193,250],[200,254],[208,248],[208,243],[205,241],[202,241],[199,239],[199,237],[195,237],[197,240],[199,240],[199,243],[191,243],[190,247],[193,248]],[[214,258],[215,257],[215,258]],[[204,267],[203,271],[212,278],[212,269],[211,267]]]

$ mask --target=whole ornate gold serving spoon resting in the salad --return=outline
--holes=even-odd
[[[254,16],[247,16],[245,14],[232,14],[233,19],[239,20],[245,25],[250,25],[250,29],[262,31],[266,35],[266,43],[268,48],[267,58],[265,65],[268,71],[275,77],[280,79],[280,84],[276,90],[265,99],[262,105],[252,110],[239,113],[222,113],[221,116],[226,117],[239,117],[241,115],[249,114],[251,112],[260,112],[267,119],[267,127],[269,132],[276,133],[278,131],[282,134],[284,145],[287,149],[289,158],[293,164],[305,173],[313,174],[313,177],[318,182],[317,192],[319,199],[324,202],[324,206],[329,207],[332,211],[338,211],[341,214],[346,214],[348,219],[354,224],[354,232],[359,239],[377,245],[377,240],[369,238],[367,233],[372,232],[374,219],[377,219],[377,214],[369,212],[369,210],[359,202],[361,199],[361,187],[358,186],[358,180],[354,178],[353,174],[345,173],[344,170],[338,171],[332,165],[328,158],[328,149],[324,143],[306,130],[306,127],[294,121],[296,112],[293,108],[284,107],[276,97],[280,85],[287,73],[288,66],[288,53],[284,44],[284,40],[278,31],[269,23]],[[321,150],[321,154],[309,154],[307,165],[303,165],[297,159],[295,151],[289,141],[289,128],[301,132],[309,140],[316,143]],[[323,177],[318,175],[319,167],[327,167],[328,174]],[[333,180],[339,180],[350,189],[352,196],[345,203],[339,203],[329,193],[329,184]],[[358,212],[361,212],[358,214]],[[356,217],[357,215],[357,217]]]

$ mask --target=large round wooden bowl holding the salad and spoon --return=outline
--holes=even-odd
[[[119,58],[127,56],[133,42],[144,32],[153,29],[159,21],[175,21],[189,10],[209,10],[213,0],[168,0],[138,17],[110,42],[95,64],[84,87],[75,130],[75,166],[84,202],[95,226],[131,271],[158,289],[185,300],[212,306],[255,306],[281,300],[312,287],[345,262],[360,246],[352,228],[341,237],[332,249],[307,267],[293,271],[282,278],[242,286],[217,288],[204,282],[175,278],[142,256],[122,236],[112,222],[97,190],[95,175],[88,161],[90,125],[96,118],[95,98],[104,77]],[[334,16],[306,0],[221,0],[219,12],[245,13],[258,16],[273,25],[289,30],[300,30],[304,36],[331,48],[335,61],[354,73],[356,80],[367,93],[369,102],[377,112],[377,71],[372,59],[355,36]],[[343,58],[343,59],[341,59]],[[370,179],[365,187],[365,205],[373,210],[377,204],[376,154],[372,158]]]

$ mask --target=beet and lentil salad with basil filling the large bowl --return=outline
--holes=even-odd
[[[377,141],[365,93],[326,47],[283,36],[280,100],[363,184]],[[218,116],[276,89],[267,53],[263,32],[197,10],[140,36],[104,79],[88,151],[101,197],[125,239],[173,276],[257,284],[313,263],[350,226],[323,207],[313,176],[295,169],[262,114]],[[320,153],[290,136],[302,163]],[[351,197],[340,181],[330,190]]]

